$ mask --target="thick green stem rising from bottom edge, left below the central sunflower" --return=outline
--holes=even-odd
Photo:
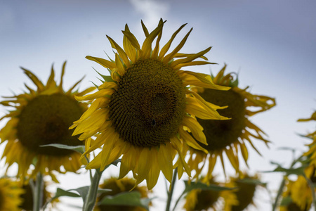
[[[82,208],[82,211],[91,211],[93,210],[94,205],[96,204],[96,196],[98,193],[98,186],[101,179],[102,172],[100,172],[100,169],[96,170],[96,173],[94,174],[91,186],[88,190],[88,195],[86,196],[86,200],[84,200],[84,207]]]

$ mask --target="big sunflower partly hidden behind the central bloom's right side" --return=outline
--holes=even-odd
[[[218,110],[218,113],[231,118],[226,121],[217,121],[204,120],[197,117],[197,121],[204,128],[208,145],[204,143],[199,144],[203,148],[206,148],[209,154],[201,153],[200,151],[190,148],[188,164],[192,170],[196,171],[195,178],[199,177],[207,158],[209,160],[207,177],[211,177],[218,157],[220,158],[225,173],[223,154],[227,155],[232,167],[235,168],[236,172],[239,172],[238,151],[242,152],[242,157],[245,162],[248,159],[246,142],[250,143],[256,151],[257,149],[252,143],[251,138],[263,141],[265,144],[269,142],[263,137],[265,133],[255,124],[251,123],[249,117],[275,106],[275,99],[268,96],[250,94],[249,91],[246,91],[248,87],[246,87],[246,89],[240,89],[238,87],[238,79],[234,79],[233,73],[224,75],[225,68],[226,65],[218,72],[216,77],[212,75],[212,79],[214,84],[228,86],[232,89],[221,91],[204,89],[202,87],[192,88],[197,91],[205,101],[215,103],[218,106],[228,106],[228,108]],[[254,110],[254,108],[257,108],[257,110]],[[201,162],[203,163],[202,166],[199,165]]]

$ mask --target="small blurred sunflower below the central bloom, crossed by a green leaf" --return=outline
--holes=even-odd
[[[148,196],[148,189],[146,186],[136,186],[135,180],[131,178],[123,178],[123,179],[117,179],[115,177],[111,177],[109,179],[105,179],[103,181],[103,184],[100,184],[100,188],[104,189],[111,189],[112,191],[107,193],[102,193],[100,196],[98,196],[97,201],[101,201],[106,196],[115,196],[119,193],[129,192],[133,189],[133,191],[137,191],[140,193],[140,198],[147,198]],[[96,205],[94,208],[95,211],[119,211],[119,210],[126,210],[126,211],[145,211],[146,209],[143,207],[135,207],[135,206],[125,206],[125,205]]]

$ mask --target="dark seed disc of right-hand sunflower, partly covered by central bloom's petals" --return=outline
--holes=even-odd
[[[204,134],[208,146],[201,145],[208,151],[223,150],[231,143],[235,143],[242,134],[245,127],[245,105],[244,98],[235,91],[221,91],[205,89],[202,98],[218,106],[228,106],[223,110],[218,110],[220,115],[231,117],[231,120],[200,120],[198,122],[204,128]]]

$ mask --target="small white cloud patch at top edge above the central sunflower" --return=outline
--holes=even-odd
[[[130,0],[135,10],[143,17],[146,26],[154,27],[160,18],[166,19],[166,13],[169,11],[169,4],[164,1],[154,0]],[[152,29],[149,29],[152,30]]]

